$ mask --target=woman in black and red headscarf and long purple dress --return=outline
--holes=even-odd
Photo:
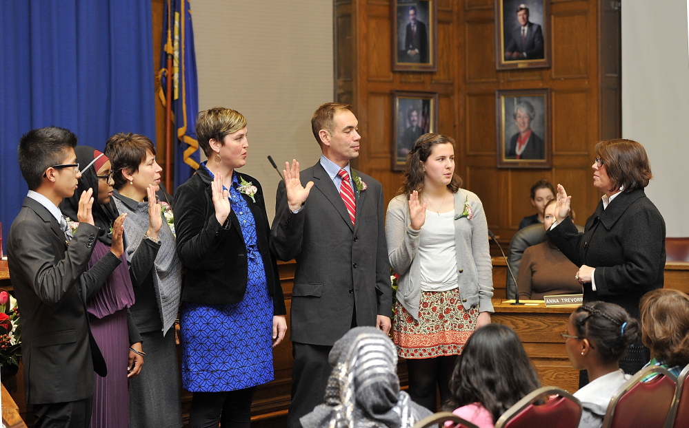
[[[81,178],[74,196],[63,200],[60,209],[66,217],[77,219],[79,195],[92,189],[93,222],[101,231],[84,277],[101,277],[99,283],[102,286],[90,296],[86,309],[91,332],[108,367],[108,376],[94,376],[90,427],[129,427],[128,378],[139,374],[143,357],[137,354],[137,351],[141,352],[141,335],[128,309],[134,304],[132,281],[127,264],[121,263],[125,260],[121,228],[126,215],[119,215],[111,200],[110,160],[93,147],[77,146],[74,152],[81,167]],[[113,237],[118,226],[119,242],[117,237]],[[117,267],[110,270],[110,275],[100,274],[99,266],[114,257],[117,257],[114,262]]]

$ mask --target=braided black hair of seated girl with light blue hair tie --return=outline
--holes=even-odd
[[[579,306],[572,317],[577,336],[588,339],[603,364],[619,361],[629,345],[639,342],[639,321],[621,306],[592,301]]]

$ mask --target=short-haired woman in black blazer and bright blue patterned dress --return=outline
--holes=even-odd
[[[194,393],[189,426],[248,427],[256,385],[274,378],[285,301],[261,185],[236,171],[246,164],[246,120],[216,107],[199,113],[196,132],[208,161],[174,199],[185,269],[182,385]]]

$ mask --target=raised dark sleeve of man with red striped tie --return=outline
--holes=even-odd
[[[270,250],[277,259],[289,261],[301,253],[307,206],[308,200],[306,204],[301,206],[298,213],[292,213],[287,202],[285,182],[281,181],[278,184],[275,197],[275,218],[272,220],[270,231]]]

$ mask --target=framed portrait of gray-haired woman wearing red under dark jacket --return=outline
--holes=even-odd
[[[497,167],[550,168],[548,89],[495,92]]]

